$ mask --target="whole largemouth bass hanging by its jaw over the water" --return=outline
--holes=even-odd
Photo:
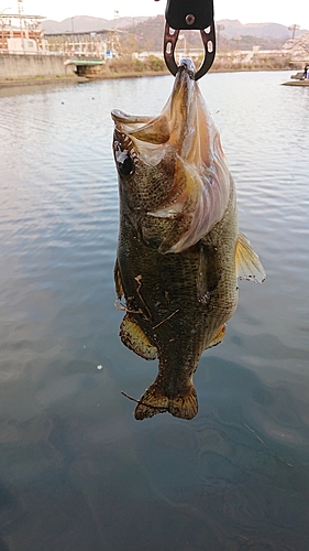
[[[183,60],[158,117],[112,111],[119,175],[120,230],[114,268],[124,296],[122,343],[158,375],[135,418],[198,411],[192,376],[206,348],[218,345],[238,305],[238,278],[264,281],[239,233],[235,188],[219,132]]]

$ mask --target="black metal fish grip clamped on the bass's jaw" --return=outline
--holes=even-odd
[[[165,10],[164,58],[168,71],[175,76],[175,47],[179,31],[199,30],[205,48],[205,58],[195,74],[198,80],[211,67],[216,55],[213,0],[167,0]]]

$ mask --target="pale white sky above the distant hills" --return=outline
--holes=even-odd
[[[175,0],[177,1],[177,0]],[[201,0],[202,1],[202,0]],[[241,23],[294,23],[309,30],[308,0],[213,0],[214,19],[238,19]],[[24,13],[62,21],[74,15],[113,19],[163,14],[166,0],[23,0]],[[0,0],[0,12],[16,13],[18,0]]]

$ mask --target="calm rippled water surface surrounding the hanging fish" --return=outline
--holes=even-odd
[[[309,95],[288,76],[201,80],[267,281],[241,283],[190,423],[134,421],[120,392],[157,366],[113,307],[110,110],[157,114],[173,77],[2,93],[0,549],[307,548]]]

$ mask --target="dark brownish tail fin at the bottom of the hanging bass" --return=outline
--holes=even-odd
[[[181,419],[192,419],[196,417],[198,400],[194,385],[190,385],[183,392],[175,396],[167,396],[157,382],[153,382],[141,397],[134,415],[135,419],[141,421],[166,411]]]

